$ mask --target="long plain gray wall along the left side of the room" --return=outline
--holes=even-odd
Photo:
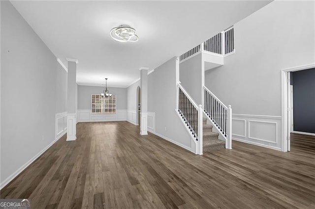
[[[58,62],[9,1],[1,1],[1,186],[55,140]]]

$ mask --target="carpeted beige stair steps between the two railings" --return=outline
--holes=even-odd
[[[225,148],[225,141],[220,140],[219,133],[212,132],[212,125],[207,124],[207,118],[202,119],[203,152]]]

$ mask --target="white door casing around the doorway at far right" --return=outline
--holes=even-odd
[[[284,68],[281,70],[281,104],[282,104],[282,151],[287,152],[288,146],[290,146],[287,142],[287,137],[289,136],[288,126],[288,114],[287,114],[287,107],[288,107],[288,89],[287,89],[287,72],[294,72],[300,70],[311,69],[315,67],[315,63],[300,65],[290,68]]]

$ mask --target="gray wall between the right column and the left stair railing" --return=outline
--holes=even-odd
[[[191,147],[189,132],[177,115],[175,57],[148,76],[148,111],[155,112],[155,131],[186,147]]]

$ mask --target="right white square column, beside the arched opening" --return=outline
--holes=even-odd
[[[140,68],[141,110],[140,110],[140,134],[148,135],[148,70]]]

